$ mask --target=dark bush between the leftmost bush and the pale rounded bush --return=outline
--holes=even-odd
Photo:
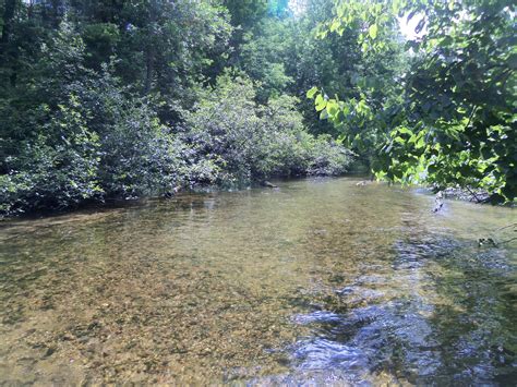
[[[118,119],[103,128],[100,138],[99,179],[106,195],[170,192],[181,181],[181,144],[145,101],[118,108]]]

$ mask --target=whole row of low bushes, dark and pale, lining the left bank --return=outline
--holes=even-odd
[[[273,176],[339,174],[351,160],[329,137],[304,130],[296,98],[260,105],[255,85],[240,74],[226,73],[201,90],[176,133],[160,122],[156,104],[121,88],[107,68],[92,74],[63,85],[52,105],[39,102],[9,121],[0,214],[239,186]]]

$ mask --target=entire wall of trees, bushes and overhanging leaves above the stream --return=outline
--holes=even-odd
[[[1,214],[340,174],[352,159],[516,196],[509,1],[0,7]],[[423,36],[407,41],[397,16]]]

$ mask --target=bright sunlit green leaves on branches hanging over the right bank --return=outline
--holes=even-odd
[[[493,202],[517,195],[515,7],[508,1],[339,1],[323,28],[357,29],[364,56],[396,41],[397,16],[420,17],[408,41],[410,66],[385,85],[357,83],[359,97],[313,89],[316,110],[351,146],[375,155],[380,177],[486,190]],[[381,87],[381,88],[380,88]],[[375,100],[373,95],[381,95]],[[368,150],[366,150],[368,152]]]

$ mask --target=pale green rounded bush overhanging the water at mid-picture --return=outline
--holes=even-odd
[[[184,138],[212,161],[213,178],[223,185],[273,176],[344,173],[352,154],[330,137],[309,134],[296,104],[281,95],[260,105],[253,82],[227,72],[183,113]]]

